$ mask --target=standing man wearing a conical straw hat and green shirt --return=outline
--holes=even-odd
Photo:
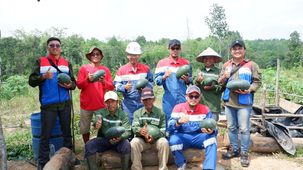
[[[222,86],[217,83],[220,68],[215,67],[214,63],[220,63],[222,60],[222,57],[220,57],[216,51],[208,47],[196,57],[196,61],[204,63],[205,67],[198,68],[192,78],[192,84],[198,86],[201,91],[201,100],[199,103],[210,108],[216,122],[219,120],[221,109],[220,101],[224,90]],[[213,80],[213,83],[210,86],[205,85],[206,78],[211,78]]]

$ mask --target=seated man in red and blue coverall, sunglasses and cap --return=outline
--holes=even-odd
[[[174,106],[171,118],[168,120],[168,128],[171,131],[178,131],[169,140],[178,170],[186,169],[186,157],[183,156],[183,149],[189,147],[205,149],[206,160],[203,163],[203,170],[216,169],[218,130],[217,127],[214,130],[208,129],[208,131],[199,127],[203,119],[213,119],[210,109],[199,104],[200,94],[197,86],[189,86],[185,95],[186,102]]]

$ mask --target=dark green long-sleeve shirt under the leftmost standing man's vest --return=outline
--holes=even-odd
[[[46,81],[46,79],[41,80],[40,63],[41,63],[41,59],[38,58],[33,64],[32,72],[30,73],[30,77],[28,79],[28,84],[31,87],[36,87],[38,85],[41,85],[41,84],[45,83],[45,81]],[[75,88],[76,88],[76,79],[75,79],[75,76],[74,76],[74,72],[72,70],[72,64],[69,61],[67,61],[67,63],[69,65],[69,77],[72,81],[71,88],[69,88],[68,90],[75,90]],[[69,100],[66,100],[64,102],[51,103],[51,104],[48,104],[48,105],[43,105],[43,106],[41,106],[41,109],[48,110],[48,111],[57,111],[57,108],[58,108],[58,110],[63,110],[64,107],[71,106],[71,105],[72,105],[72,100],[69,99]]]

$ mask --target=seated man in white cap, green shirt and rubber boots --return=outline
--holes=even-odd
[[[131,135],[131,126],[127,113],[117,108],[119,103],[118,95],[109,91],[104,95],[105,108],[96,112],[93,126],[98,129],[96,138],[93,138],[85,144],[85,155],[89,170],[97,169],[96,153],[107,150],[115,150],[121,153],[122,170],[126,170],[129,165],[130,143],[127,140]],[[122,126],[126,130],[121,137],[108,141],[104,134],[114,126]]]

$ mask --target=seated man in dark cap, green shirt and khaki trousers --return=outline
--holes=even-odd
[[[165,113],[163,110],[153,106],[153,102],[155,102],[153,89],[149,87],[144,88],[140,100],[144,107],[135,111],[134,120],[132,121],[132,131],[136,135],[130,142],[132,148],[132,170],[142,170],[141,152],[147,149],[158,151],[159,170],[167,170],[169,145],[164,137],[166,126]],[[152,136],[147,135],[148,124],[159,127],[161,133],[158,138],[154,139]]]

